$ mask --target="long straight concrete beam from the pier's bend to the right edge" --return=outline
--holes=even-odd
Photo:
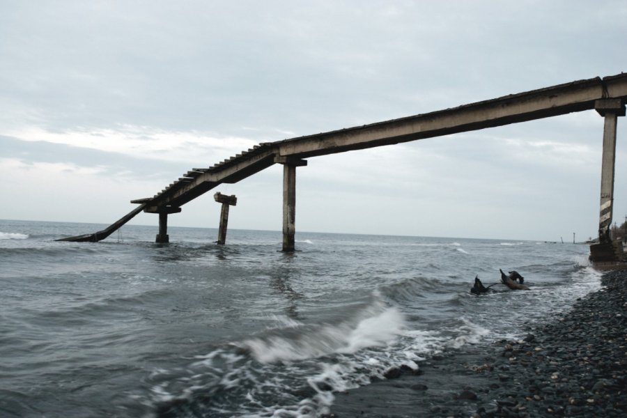
[[[598,99],[624,99],[626,95],[627,74],[603,80],[596,77],[465,104],[454,109],[286,139],[274,144],[281,157],[304,158],[341,153],[594,109]]]

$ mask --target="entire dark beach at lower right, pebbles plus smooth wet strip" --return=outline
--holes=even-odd
[[[626,417],[627,270],[520,341],[465,347],[336,394],[327,417]]]

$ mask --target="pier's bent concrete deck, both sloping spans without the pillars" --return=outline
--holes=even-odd
[[[501,98],[464,104],[452,109],[371,123],[259,144],[209,169],[193,169],[153,197],[155,206],[182,206],[221,183],[236,183],[281,162],[398,144],[456,132],[479,130],[595,108],[596,100],[627,99],[627,74],[595,77]]]

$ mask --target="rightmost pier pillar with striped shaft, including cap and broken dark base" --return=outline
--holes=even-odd
[[[596,100],[594,108],[605,118],[603,125],[603,158],[601,162],[601,209],[598,219],[598,244],[590,246],[593,262],[621,261],[610,238],[614,206],[614,166],[616,164],[616,128],[618,116],[625,116],[625,105],[620,99]]]

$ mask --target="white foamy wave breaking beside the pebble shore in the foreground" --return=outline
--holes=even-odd
[[[157,373],[150,389],[156,415],[314,418],[328,412],[334,392],[385,378],[401,364],[418,368],[417,355],[390,350],[405,319],[378,300],[333,324],[277,320],[284,327]]]

